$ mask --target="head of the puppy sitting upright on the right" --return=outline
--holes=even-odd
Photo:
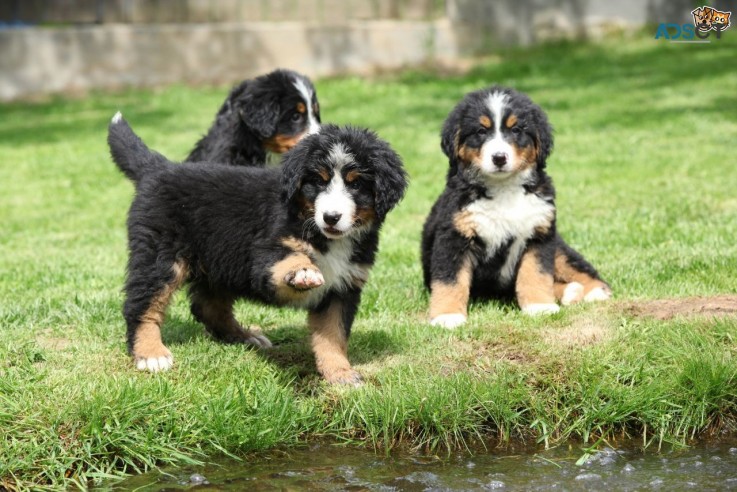
[[[543,110],[526,95],[495,86],[468,94],[451,111],[441,147],[449,175],[504,180],[544,169],[553,135]]]

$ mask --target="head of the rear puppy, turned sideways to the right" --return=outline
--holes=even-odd
[[[229,106],[263,142],[265,150],[284,153],[306,135],[320,130],[320,105],[310,79],[275,70],[236,86]]]

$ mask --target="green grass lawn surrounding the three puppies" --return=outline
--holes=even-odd
[[[226,87],[173,86],[0,106],[0,488],[90,480],[315,438],[439,448],[733,432],[737,320],[639,317],[648,299],[737,291],[734,36],[504,51],[463,75],[318,80],[324,119],[375,129],[411,175],[390,214],[350,344],[367,378],[329,387],[304,313],[240,303],[268,352],[207,339],[179,294],[163,327],[176,365],[133,369],[120,314],[131,184],[106,126],[122,110],[183,158]],[[425,322],[419,236],[443,187],[440,126],[470,90],[512,85],[556,130],[562,234],[614,288],[608,306],[528,319],[474,304]]]

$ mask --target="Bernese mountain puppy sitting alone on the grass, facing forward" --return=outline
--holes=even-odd
[[[448,115],[441,147],[450,169],[422,233],[433,325],[463,324],[469,298],[516,298],[538,314],[611,296],[556,231],[545,172],[553,136],[539,106],[499,86],[469,93]]]

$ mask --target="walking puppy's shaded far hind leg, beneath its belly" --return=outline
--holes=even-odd
[[[233,315],[234,299],[218,295],[201,285],[190,288],[192,315],[214,338],[223,343],[247,343],[259,348],[270,348],[271,341],[259,330],[245,329]]]

